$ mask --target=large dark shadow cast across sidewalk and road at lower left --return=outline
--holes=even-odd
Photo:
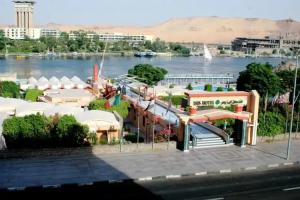
[[[0,189],[1,199],[86,194],[99,199],[161,199],[94,155],[91,147],[52,149],[42,155],[34,151],[39,150],[27,152],[26,158],[0,160],[0,171],[6,172],[0,173],[0,188],[4,188]],[[25,189],[8,190],[12,187]]]

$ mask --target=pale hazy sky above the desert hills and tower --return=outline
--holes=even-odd
[[[35,24],[154,25],[170,18],[222,16],[300,21],[300,0],[36,0]],[[0,24],[14,24],[0,0]]]

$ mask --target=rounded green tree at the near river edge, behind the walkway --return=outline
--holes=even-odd
[[[164,79],[167,73],[167,70],[161,67],[154,67],[150,64],[138,64],[133,69],[128,70],[129,75],[136,76],[137,80],[148,85],[156,85]]]

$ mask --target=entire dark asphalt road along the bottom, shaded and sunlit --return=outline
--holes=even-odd
[[[12,196],[94,195],[99,199],[300,199],[300,168],[289,167],[251,173],[230,173],[146,182],[65,185],[57,189],[29,188],[21,192],[0,191]]]

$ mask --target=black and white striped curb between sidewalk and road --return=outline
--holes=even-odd
[[[284,168],[284,167],[292,167],[292,166],[300,166],[300,161],[295,162],[283,162],[283,163],[273,163],[262,166],[249,166],[237,169],[221,169],[214,171],[199,171],[196,173],[187,173],[187,174],[169,174],[164,176],[145,176],[136,179],[111,179],[111,180],[103,180],[103,181],[95,181],[95,182],[86,182],[86,183],[66,183],[66,184],[55,184],[55,185],[36,185],[29,187],[8,187],[8,188],[0,188],[0,193],[3,192],[21,192],[21,191],[42,191],[45,189],[63,189],[63,190],[73,190],[78,187],[90,187],[90,186],[104,186],[109,184],[124,184],[124,183],[135,183],[135,182],[147,182],[147,181],[155,181],[155,180],[173,180],[180,179],[185,177],[205,177],[208,175],[225,175],[236,172],[252,172],[258,170],[269,170],[276,168]]]

